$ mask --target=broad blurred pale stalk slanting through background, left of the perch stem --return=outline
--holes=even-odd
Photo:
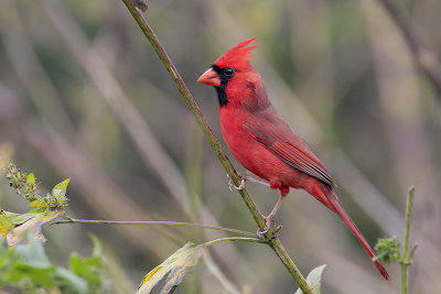
[[[216,224],[217,221],[213,214],[201,203],[201,199],[196,197],[194,190],[186,189],[181,171],[166,152],[164,152],[139,111],[130,104],[120,83],[116,80],[112,70],[109,69],[108,62],[103,58],[99,51],[90,46],[87,36],[84,34],[78,23],[64,9],[63,4],[57,1],[40,0],[40,2],[71,55],[82,65],[85,74],[89,76],[96,89],[110,106],[122,127],[126,128],[126,131],[133,141],[146,166],[151,167],[161,179],[164,187],[170,192],[170,195],[178,200],[191,220],[195,221],[195,219],[193,219],[195,215],[192,214],[191,209],[191,204],[193,204],[201,210],[203,219],[207,220],[208,224]],[[173,178],[173,181],[170,181],[170,178]],[[232,244],[216,247],[214,250],[224,255],[228,254],[227,258],[233,261],[243,259],[237,249]],[[243,266],[245,266],[244,274],[247,274],[247,272],[249,272],[249,269],[247,269],[248,265],[244,264]],[[234,271],[235,274],[240,272],[237,266],[230,268],[230,270]],[[247,275],[254,280],[254,283],[259,283],[255,275]]]

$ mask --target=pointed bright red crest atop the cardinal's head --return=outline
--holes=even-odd
[[[214,64],[220,68],[235,67],[243,68],[249,66],[248,61],[252,57],[250,52],[259,45],[248,46],[250,43],[257,40],[257,36],[245,40],[227,51],[222,55]]]

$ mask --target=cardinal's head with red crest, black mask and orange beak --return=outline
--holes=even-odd
[[[255,75],[260,79],[249,63],[252,57],[250,52],[258,46],[249,44],[256,39],[257,36],[245,40],[227,51],[197,79],[198,83],[215,87],[220,106],[227,104],[227,86],[236,91],[249,84],[249,79]]]

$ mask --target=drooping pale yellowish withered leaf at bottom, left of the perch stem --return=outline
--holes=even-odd
[[[169,273],[161,294],[171,293],[196,264],[202,255],[203,246],[192,242],[174,252],[160,265],[151,270],[142,280],[137,294],[149,294],[153,287]]]

